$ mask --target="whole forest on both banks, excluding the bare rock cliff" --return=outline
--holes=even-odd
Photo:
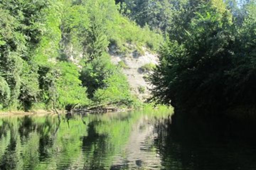
[[[195,113],[256,109],[254,0],[2,0],[0,26],[3,111],[143,107],[111,46],[159,55],[149,102]]]

